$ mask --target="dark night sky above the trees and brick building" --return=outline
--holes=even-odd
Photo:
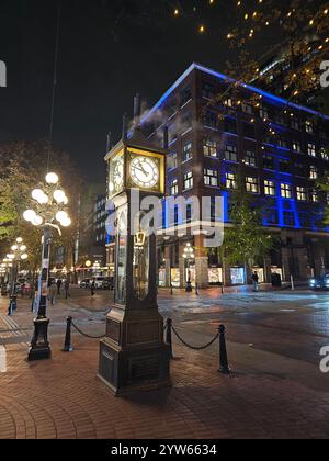
[[[225,36],[236,21],[234,1],[222,0],[215,9],[203,0],[181,2],[189,14],[180,19],[173,18],[173,4],[63,1],[54,145],[88,179],[103,178],[106,134],[117,140],[136,92],[151,106],[192,61],[224,71],[232,58]],[[0,59],[8,65],[8,88],[0,89],[1,140],[48,136],[57,11],[55,0],[0,0]],[[209,32],[197,34],[200,23]],[[256,44],[258,52],[262,47]]]

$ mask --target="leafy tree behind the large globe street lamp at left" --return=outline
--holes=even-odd
[[[56,237],[54,244],[63,245],[72,254],[79,226],[79,199],[82,179],[77,166],[65,153],[50,150],[47,142],[19,142],[0,145],[0,241],[5,245],[18,235],[22,236],[30,248],[30,265],[38,267],[41,229],[32,228],[23,220],[23,213],[30,207],[31,191],[43,182],[47,172],[47,158],[50,169],[55,170],[60,184],[69,196],[69,213],[72,225],[64,231],[63,237]]]

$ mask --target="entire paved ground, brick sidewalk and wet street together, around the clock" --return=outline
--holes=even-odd
[[[231,308],[235,297],[209,302],[215,292],[188,303],[183,294],[160,293],[161,308],[172,306],[179,333],[193,345],[207,342],[219,323],[228,326],[234,373],[217,372],[216,344],[197,352],[175,340],[173,386],[125,400],[97,379],[97,340],[75,334],[75,352],[61,352],[66,315],[88,333],[104,330],[104,296],[73,293],[52,308],[53,359],[37,363],[26,362],[29,302],[20,300],[7,317],[0,300],[1,439],[329,438],[329,375],[318,366],[318,348],[329,344],[328,295],[296,293],[291,303],[253,296],[251,306],[239,301]]]

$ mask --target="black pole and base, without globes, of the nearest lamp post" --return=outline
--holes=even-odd
[[[48,277],[50,258],[52,233],[49,227],[44,228],[42,271],[38,281],[37,317],[34,319],[34,336],[31,341],[29,361],[44,360],[52,357],[48,341],[49,318],[47,318]]]

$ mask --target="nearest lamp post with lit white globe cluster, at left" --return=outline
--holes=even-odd
[[[48,173],[46,183],[32,192],[34,210],[26,210],[24,220],[36,227],[43,227],[42,267],[37,291],[37,317],[34,319],[34,335],[31,341],[29,361],[49,359],[52,356],[48,341],[49,318],[47,318],[48,278],[52,231],[56,229],[61,235],[60,226],[68,227],[71,224],[66,205],[68,199],[58,185],[58,176]]]

